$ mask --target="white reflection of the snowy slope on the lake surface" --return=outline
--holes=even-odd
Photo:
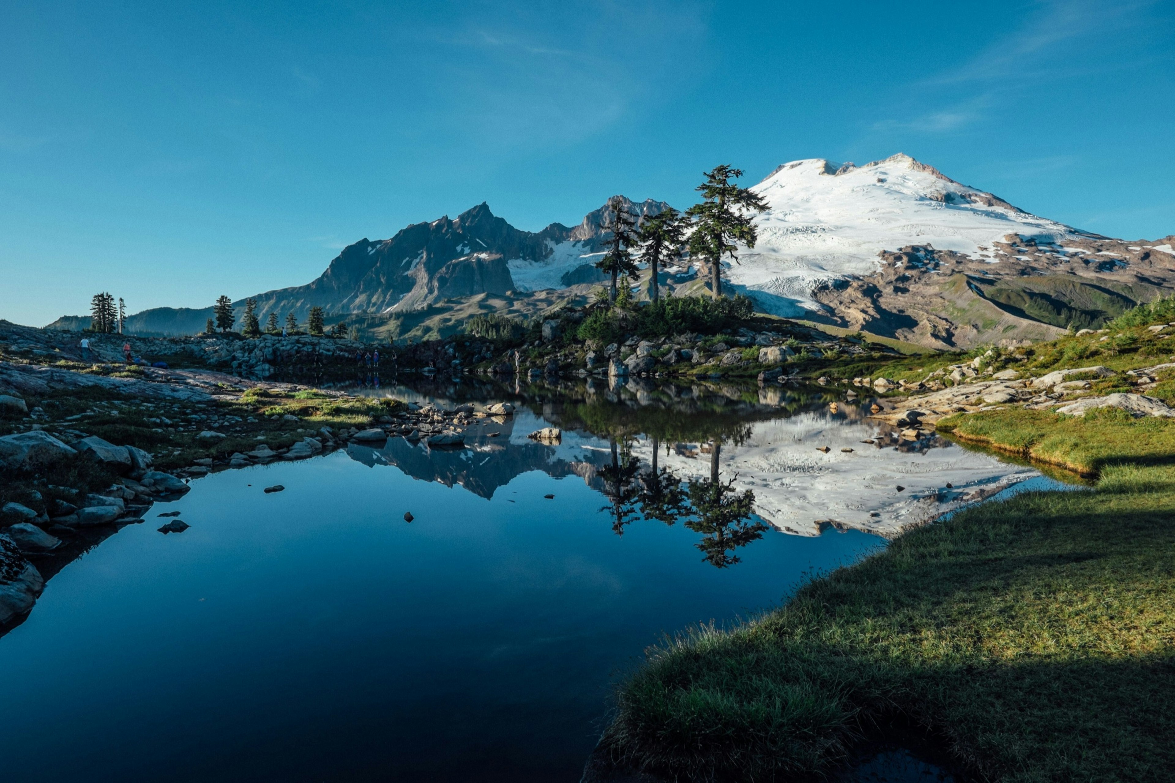
[[[905,454],[860,442],[877,435],[874,424],[825,413],[758,423],[747,443],[723,447],[721,475],[724,480],[737,475],[738,489],[754,490],[756,511],[765,521],[804,535],[819,533],[818,522],[825,520],[894,534],[956,507],[969,490],[1039,475],[954,444]],[[818,451],[822,446],[831,450]],[[650,447],[644,441],[636,450],[645,463]],[[841,448],[853,451],[842,453]],[[685,480],[710,476],[707,455],[666,457],[663,446],[659,459]],[[945,490],[947,482],[955,491]],[[899,486],[905,490],[899,493]],[[940,491],[948,500],[939,501]],[[872,517],[871,511],[880,516]]]

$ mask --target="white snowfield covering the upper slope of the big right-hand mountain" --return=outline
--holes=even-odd
[[[770,210],[756,219],[758,242],[728,280],[779,315],[818,309],[815,286],[872,273],[879,250],[929,245],[978,257],[1007,234],[1055,242],[1075,234],[901,154],[860,167],[799,160],[752,189]]]

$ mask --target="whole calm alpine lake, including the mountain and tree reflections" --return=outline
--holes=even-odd
[[[573,783],[666,635],[1048,481],[820,387],[334,384],[515,411],[214,471],[66,563],[0,638],[2,779]],[[879,745],[842,779],[953,777]]]

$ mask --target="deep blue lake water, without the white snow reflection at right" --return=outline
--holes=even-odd
[[[573,782],[662,634],[884,543],[761,526],[706,561],[705,526],[617,524],[607,440],[491,442],[216,473],[67,566],[0,638],[4,779]]]

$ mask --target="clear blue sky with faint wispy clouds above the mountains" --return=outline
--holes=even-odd
[[[304,283],[488,201],[519,228],[719,162],[905,152],[1036,214],[1175,233],[1175,2],[0,7],[0,317]]]

